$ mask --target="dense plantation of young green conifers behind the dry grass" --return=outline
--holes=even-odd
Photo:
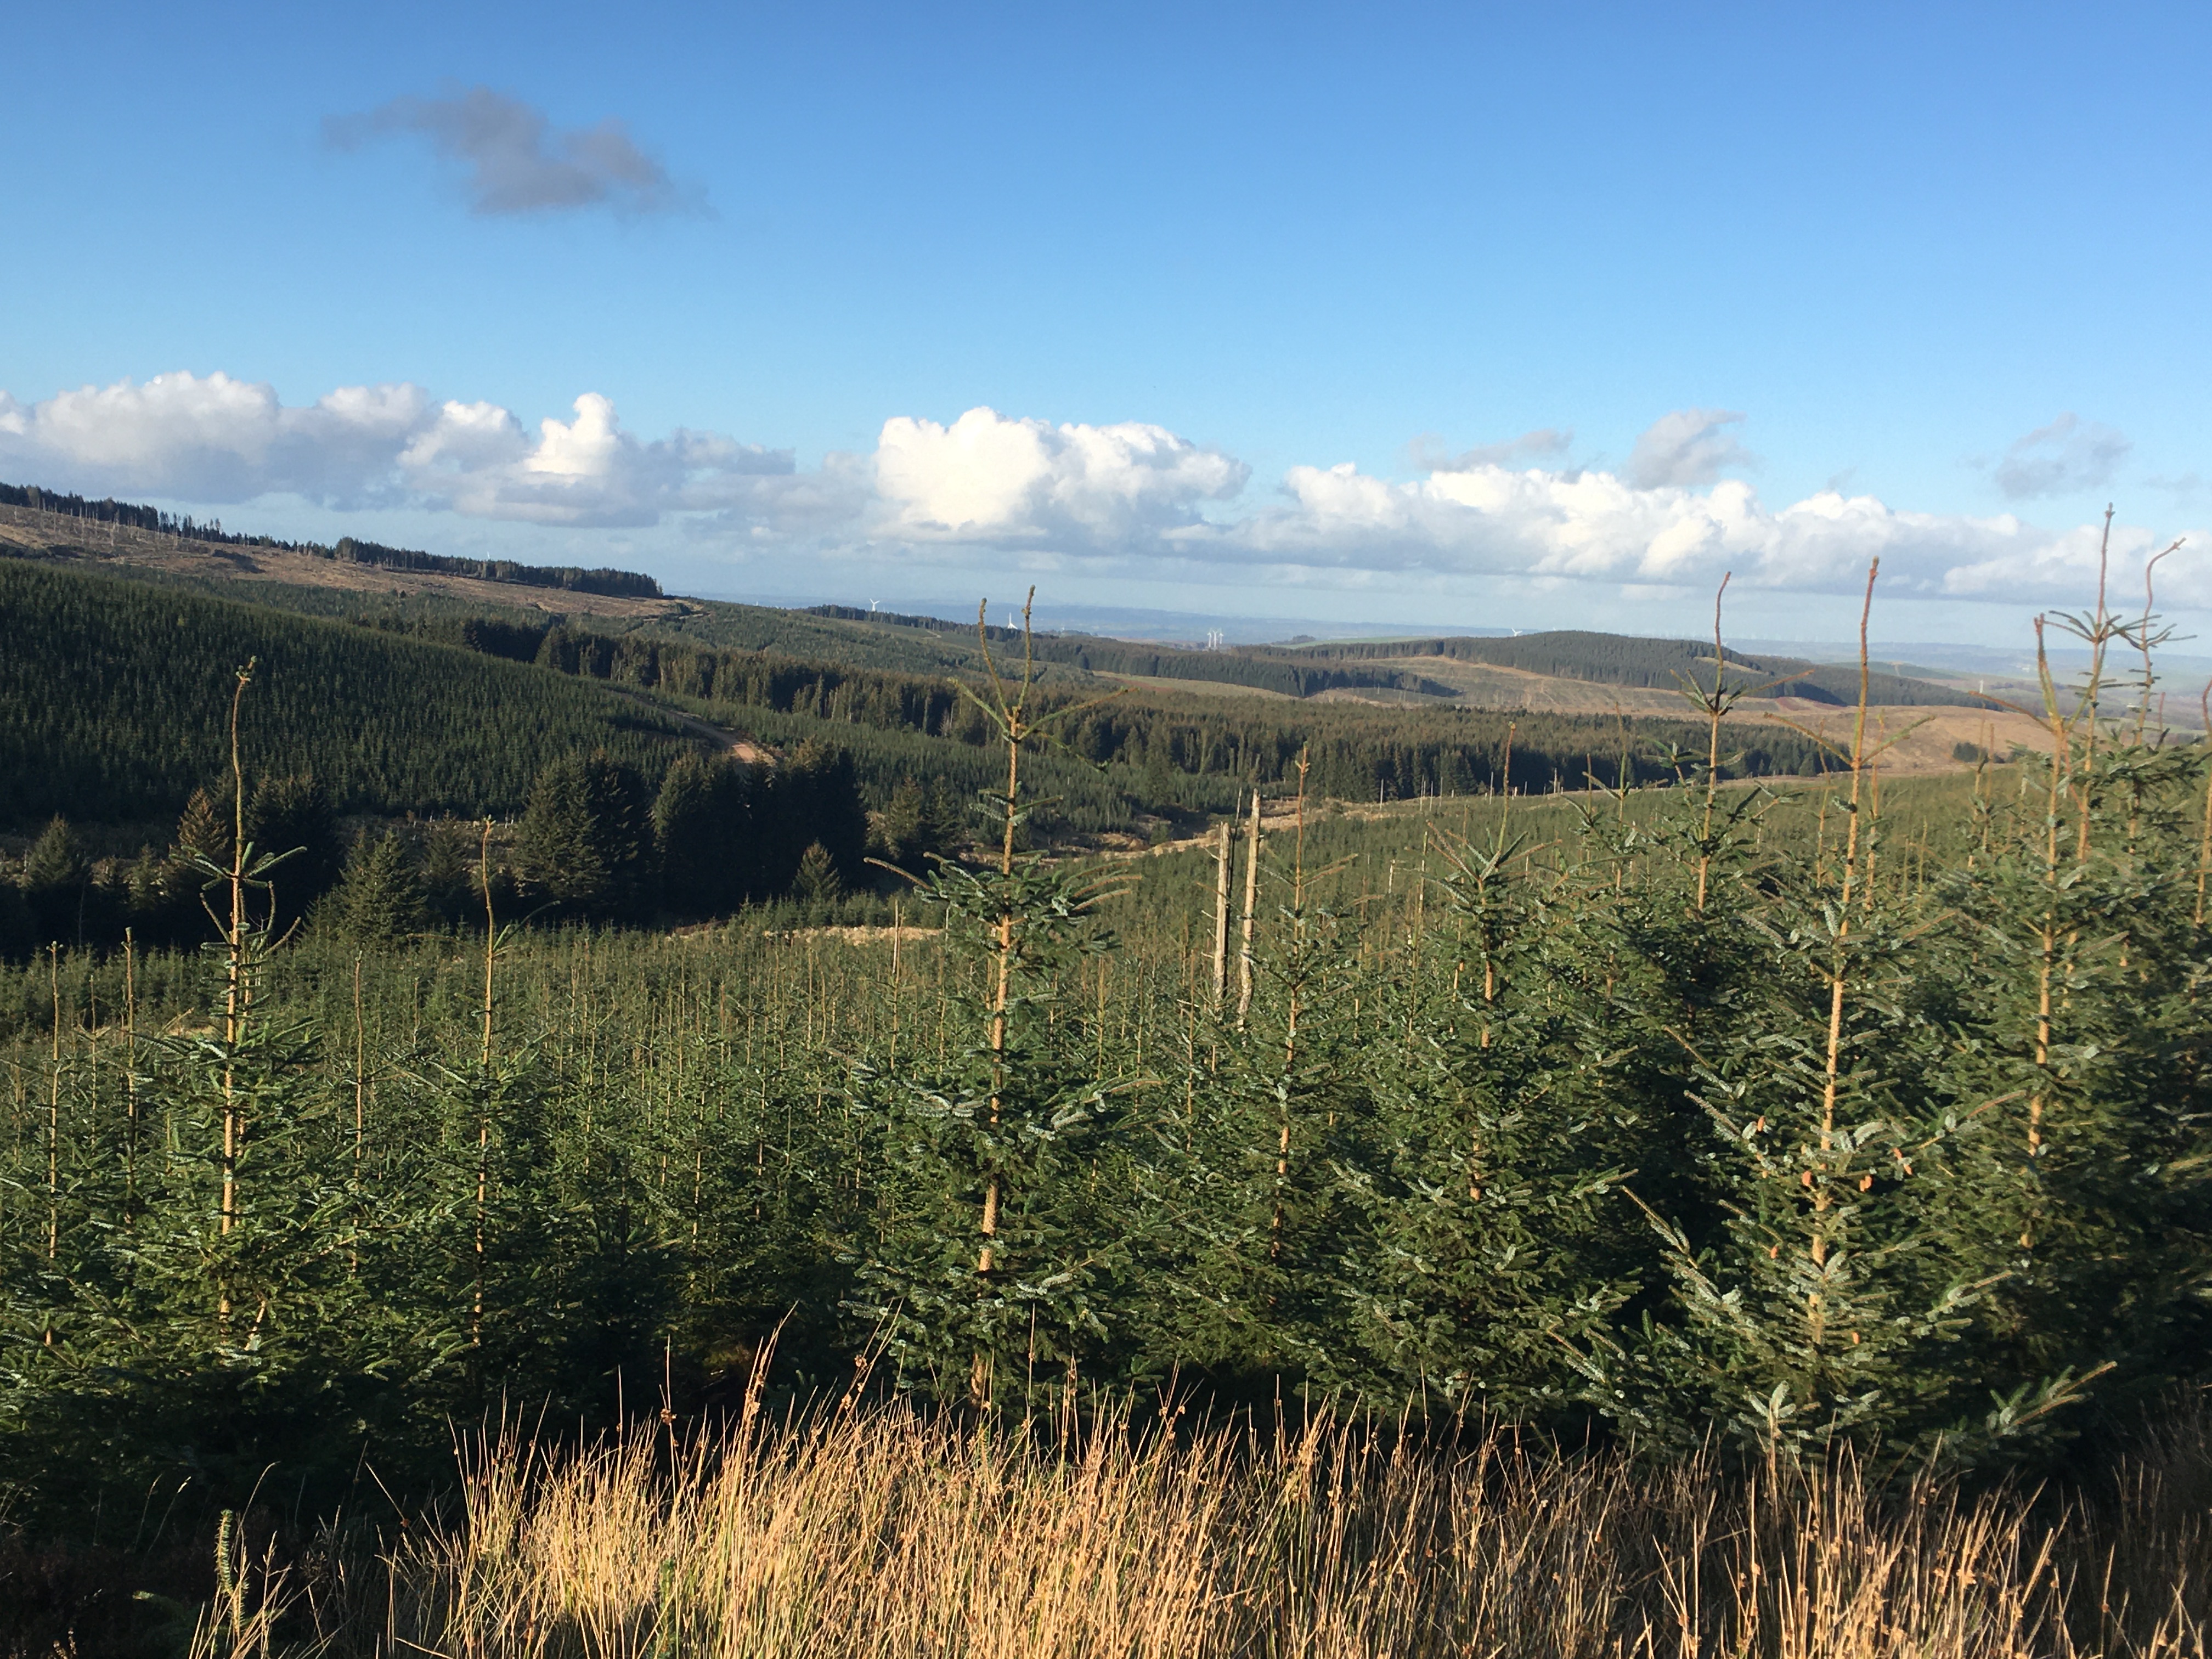
[[[283,947],[281,865],[201,849],[199,960],[0,995],[18,1502],[420,1489],[451,1420],[734,1402],[770,1343],[967,1411],[1303,1387],[1907,1464],[2194,1378],[2201,745],[2081,703],[1971,787],[1860,737],[1785,799],[1719,776],[1725,701],[1690,787],[1396,845],[1310,792],[1082,865],[1020,768],[1084,714],[1009,690],[984,852],[865,947],[498,894]]]

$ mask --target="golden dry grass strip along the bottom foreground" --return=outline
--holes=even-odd
[[[2170,1449],[2208,1464],[2203,1433]],[[905,1407],[575,1458],[469,1449],[467,1524],[392,1559],[383,1652],[2201,1655],[2203,1491],[2108,1509],[1851,1469],[1648,1473],[1509,1433],[1449,1453],[1321,1418],[1020,1436]]]

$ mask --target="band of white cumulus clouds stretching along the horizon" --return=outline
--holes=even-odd
[[[181,502],[292,493],[341,511],[544,526],[677,518],[701,546],[761,555],[1150,580],[1690,593],[1732,571],[1743,586],[1851,593],[1880,557],[1887,588],[1922,597],[2075,606],[2095,588],[2097,526],[1924,513],[1843,489],[1767,504],[1750,482],[1710,476],[1741,458],[1725,431],[1739,418],[1666,416],[1619,471],[1568,467],[1568,440],[1540,431],[1431,458],[1416,478],[1298,465],[1252,502],[1245,462],[1139,420],[1055,425],[984,407],[951,422],[896,416],[872,453],[801,471],[787,449],[712,431],[641,438],[591,392],[526,425],[498,403],[405,383],[285,405],[261,383],[164,374],[44,403],[0,392],[0,478]],[[2212,606],[2212,538],[2177,529],[2188,546],[2161,566],[2161,593]],[[2112,591],[2139,593],[2141,562],[2177,529],[2115,526]]]

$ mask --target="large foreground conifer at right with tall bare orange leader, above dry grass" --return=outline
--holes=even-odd
[[[1847,772],[1834,856],[1694,887],[1752,962],[1710,1018],[1672,1033],[1705,1119],[1697,1203],[1661,1214],[1644,1199],[1672,1310],[1619,1369],[1593,1367],[1615,1416],[1650,1440],[1694,1444],[1721,1425],[1785,1458],[1838,1440],[1902,1455],[2004,1429],[2002,1411],[1975,1409],[1986,1391],[1962,1340],[1993,1276],[1958,1232],[2002,1102],[1960,1113],[1940,1086],[1947,1033],[1920,987],[1942,971],[1949,918],[1876,863],[1876,768],[1902,732],[1871,728],[1867,681],[1863,615],[1849,739],[1820,734]],[[2042,1409],[2064,1387],[2053,1380]]]

